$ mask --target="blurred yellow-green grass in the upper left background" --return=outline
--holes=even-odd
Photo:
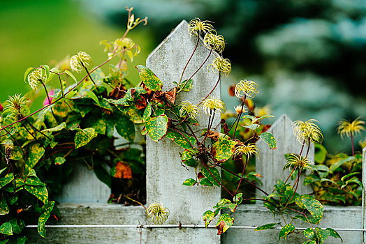
[[[97,66],[107,59],[99,41],[115,40],[124,33],[123,28],[108,26],[98,16],[83,11],[77,1],[1,1],[0,23],[1,102],[9,95],[31,90],[23,81],[28,67],[59,61],[79,51],[90,54]],[[129,63],[129,78],[136,83],[138,72],[133,66],[144,64],[153,49],[149,33],[143,29],[147,26],[138,26],[128,35],[142,49],[133,63]],[[117,63],[117,59],[112,62]],[[38,105],[41,102],[38,101],[36,107]]]

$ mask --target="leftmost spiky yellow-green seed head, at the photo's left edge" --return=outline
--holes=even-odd
[[[18,121],[23,119],[24,116],[29,112],[29,108],[27,107],[27,98],[22,96],[22,94],[15,94],[14,96],[9,96],[9,99],[6,100],[6,106],[4,112],[8,112],[8,119],[13,121]]]

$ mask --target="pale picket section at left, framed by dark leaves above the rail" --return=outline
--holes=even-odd
[[[106,203],[110,188],[99,181],[92,169],[80,163],[74,165],[67,183],[56,200],[64,203]]]

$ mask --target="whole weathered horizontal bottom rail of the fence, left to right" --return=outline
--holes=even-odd
[[[62,218],[56,222],[50,218],[47,224],[147,224],[145,211],[141,206],[120,206],[117,204],[61,204]],[[363,227],[363,215],[360,206],[346,208],[325,206],[324,218],[320,227],[358,228]],[[268,209],[258,205],[239,206],[234,213],[234,226],[260,226],[269,222],[279,222],[279,216],[273,218]],[[288,218],[287,218],[288,220]],[[295,220],[296,227],[308,227],[307,223]],[[36,224],[36,222],[35,222]],[[200,225],[203,223],[200,222]],[[36,228],[27,228],[29,243],[140,243],[140,234],[136,228],[47,228],[46,238],[38,236]],[[209,243],[216,235],[216,229],[142,229],[142,243]],[[275,244],[302,243],[302,234],[293,234],[286,241],[278,240],[279,229],[254,231],[254,229],[228,229],[221,238],[222,244]],[[360,231],[339,231],[346,244],[360,244],[363,233]],[[192,239],[189,239],[192,238]],[[328,238],[325,243],[341,243],[339,239]]]

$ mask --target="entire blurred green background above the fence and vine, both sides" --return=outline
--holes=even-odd
[[[30,90],[23,82],[29,66],[80,50],[94,64],[104,61],[98,43],[122,36],[125,6],[133,6],[136,17],[149,17],[147,26],[129,36],[142,48],[130,65],[130,79],[138,79],[131,67],[145,63],[182,19],[212,20],[226,38],[224,57],[233,63],[232,75],[221,84],[228,109],[238,102],[228,97],[228,86],[253,79],[260,88],[256,105],[270,105],[277,117],[316,119],[330,152],[351,150],[335,128],[339,119],[366,119],[363,0],[1,1],[0,100]]]

